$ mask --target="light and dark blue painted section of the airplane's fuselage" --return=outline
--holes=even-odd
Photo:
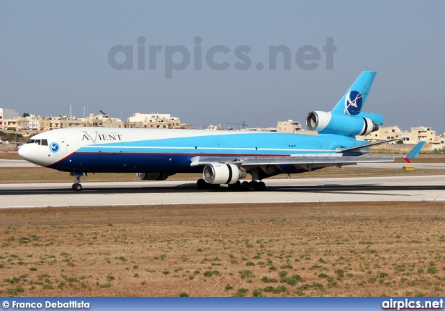
[[[88,144],[49,165],[60,171],[83,172],[200,172],[191,167],[195,156],[279,156],[332,154],[342,147],[357,146],[350,137],[281,133],[176,137],[134,142]],[[281,166],[280,166],[281,167]],[[282,167],[283,169],[284,167]],[[290,173],[293,165],[286,167]],[[288,171],[286,171],[288,172]]]

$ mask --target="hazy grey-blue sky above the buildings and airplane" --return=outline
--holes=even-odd
[[[276,126],[329,111],[375,70],[364,111],[443,133],[444,16],[445,1],[1,1],[0,107]],[[271,69],[275,46],[290,69],[283,53]]]

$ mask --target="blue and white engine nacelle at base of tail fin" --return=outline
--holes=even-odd
[[[306,117],[309,130],[338,135],[369,135],[378,125],[367,117],[335,115],[325,111],[312,111]]]

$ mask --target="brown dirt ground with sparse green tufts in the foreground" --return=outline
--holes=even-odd
[[[445,203],[0,210],[1,296],[444,296]]]

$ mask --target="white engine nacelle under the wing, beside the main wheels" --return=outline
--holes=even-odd
[[[204,167],[202,176],[206,183],[233,184],[236,183],[238,179],[245,178],[247,173],[245,172],[245,169],[239,168],[233,164],[210,163]]]

